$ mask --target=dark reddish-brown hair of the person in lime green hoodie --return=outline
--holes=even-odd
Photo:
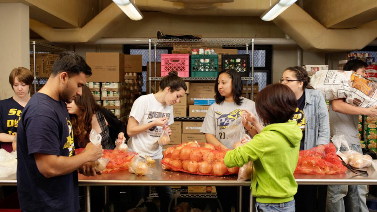
[[[285,123],[296,111],[297,100],[288,86],[276,83],[259,91],[255,107],[263,123]]]

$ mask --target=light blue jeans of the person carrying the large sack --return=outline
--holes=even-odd
[[[349,149],[360,152],[360,144],[348,144]],[[342,146],[340,151],[346,149]],[[368,187],[366,185],[329,185],[327,186],[326,212],[344,212],[345,206],[343,197],[347,194],[351,203],[351,212],[368,212],[366,206],[366,193]]]

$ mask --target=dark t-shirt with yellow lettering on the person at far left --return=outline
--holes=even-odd
[[[15,135],[18,121],[21,118],[23,106],[18,104],[13,97],[0,101],[0,132]],[[1,148],[8,152],[13,151],[12,142],[0,142]]]

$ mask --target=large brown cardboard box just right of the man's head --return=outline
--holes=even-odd
[[[92,82],[123,82],[124,54],[87,52],[86,63],[92,68]]]

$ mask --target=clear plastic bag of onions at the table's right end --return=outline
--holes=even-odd
[[[333,141],[335,147],[338,149],[336,154],[339,155],[346,164],[358,169],[372,165],[373,159],[370,155],[363,155],[360,152],[349,149],[344,135],[334,135],[331,141]],[[342,144],[346,148],[344,152],[340,152],[340,146],[342,146]]]

